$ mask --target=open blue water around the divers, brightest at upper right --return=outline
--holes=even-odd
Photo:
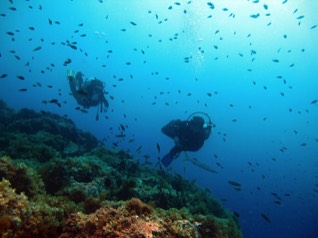
[[[183,155],[171,172],[239,213],[244,237],[318,237],[318,104],[311,103],[318,99],[318,1],[212,3],[1,0],[0,75],[8,76],[0,78],[0,98],[15,109],[65,115],[154,164],[157,144],[159,156],[173,146],[161,127],[204,111],[216,127],[188,154],[218,173]],[[106,83],[110,107],[99,121],[96,108],[75,110],[67,69]],[[62,106],[42,103],[51,99]],[[115,136],[120,124],[124,139]]]

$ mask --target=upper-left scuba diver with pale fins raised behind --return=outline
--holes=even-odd
[[[66,73],[70,84],[70,89],[76,102],[85,109],[95,106],[100,106],[97,110],[96,120],[99,119],[99,111],[107,110],[109,104],[105,98],[104,83],[96,78],[83,80],[81,72],[68,70]]]

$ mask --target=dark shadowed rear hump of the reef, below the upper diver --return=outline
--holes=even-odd
[[[13,159],[45,162],[56,156],[75,156],[98,145],[97,139],[76,128],[70,119],[30,109],[14,112],[0,103],[0,150]]]

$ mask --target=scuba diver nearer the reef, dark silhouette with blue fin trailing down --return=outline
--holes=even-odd
[[[206,123],[201,116],[208,118]],[[161,128],[162,133],[174,140],[175,146],[166,154],[161,163],[168,167],[179,157],[182,151],[198,151],[211,134],[212,122],[208,114],[204,112],[192,113],[186,121],[172,120]]]

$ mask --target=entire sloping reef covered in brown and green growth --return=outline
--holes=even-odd
[[[2,237],[242,237],[209,192],[0,100]]]

